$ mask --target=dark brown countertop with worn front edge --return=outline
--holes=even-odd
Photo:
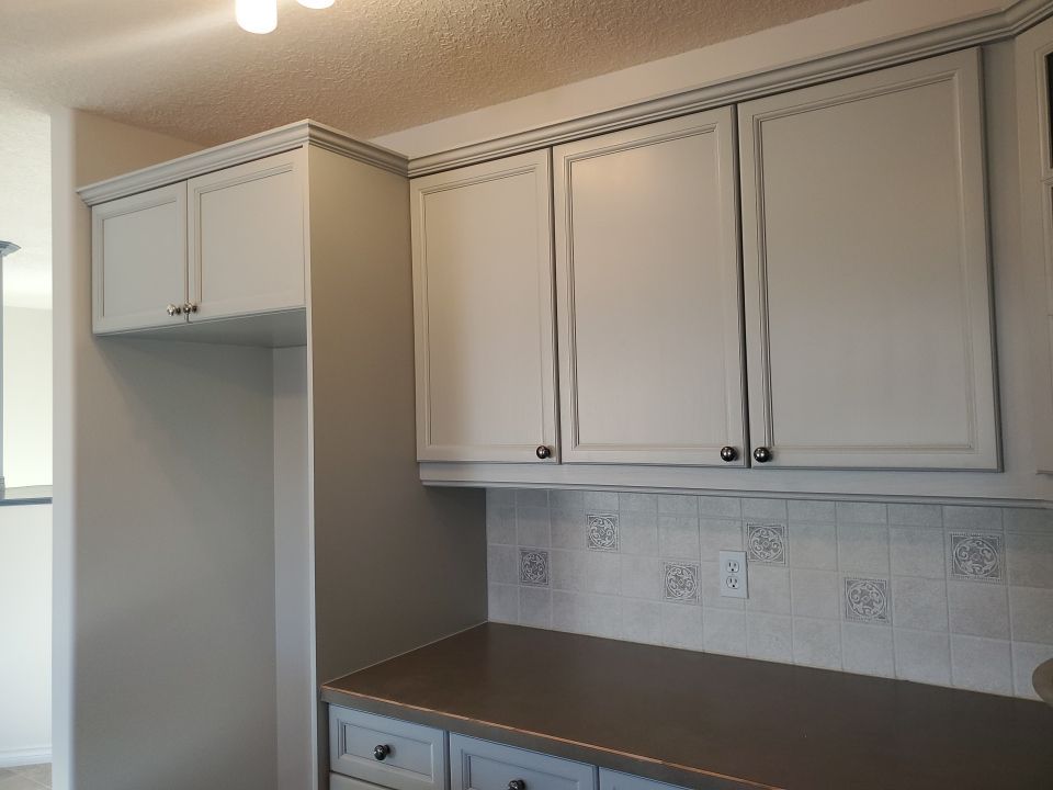
[[[1041,702],[494,623],[322,699],[691,788],[1053,788]]]

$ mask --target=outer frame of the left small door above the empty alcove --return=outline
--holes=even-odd
[[[173,267],[178,267],[177,279],[182,280],[180,293],[172,293],[167,301],[159,301],[157,305],[149,305],[136,313],[122,316],[111,316],[106,313],[106,256],[105,256],[105,225],[106,221],[121,216],[136,214],[150,208],[171,205],[174,207],[176,244]],[[170,187],[143,192],[127,198],[120,198],[107,203],[100,203],[91,210],[91,290],[92,290],[92,331],[97,335],[120,332],[133,329],[152,329],[177,324],[185,324],[186,317],[180,311],[179,315],[168,315],[169,304],[182,308],[186,301],[186,183],[180,182]]]

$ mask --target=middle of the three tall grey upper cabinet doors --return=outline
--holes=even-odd
[[[554,150],[564,461],[741,465],[733,124],[714,110]]]

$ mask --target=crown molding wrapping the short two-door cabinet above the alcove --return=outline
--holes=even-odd
[[[308,119],[81,187],[77,194],[89,206],[93,206],[305,145],[325,148],[398,176],[408,172],[408,161],[401,154],[363,143],[332,126]]]

